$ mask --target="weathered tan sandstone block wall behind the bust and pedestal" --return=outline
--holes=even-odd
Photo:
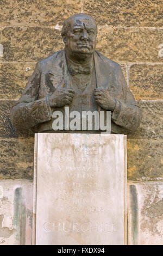
[[[1,0],[0,181],[3,191],[8,188],[5,179],[8,182],[15,179],[13,182],[18,183],[14,184],[20,184],[21,179],[22,187],[29,186],[33,179],[34,134],[21,133],[12,126],[10,109],[20,97],[36,62],[64,47],[62,22],[74,13],[87,13],[98,23],[97,50],[121,64],[127,84],[143,110],[140,128],[128,134],[128,243],[161,243],[162,11],[162,0]],[[1,190],[0,198],[4,198]],[[1,204],[0,209],[0,243],[9,244],[10,238],[3,237],[2,228],[6,227],[4,223],[9,223],[6,222],[9,216]],[[26,211],[27,219],[29,211]],[[10,223],[8,229],[14,229],[13,225]],[[15,244],[30,243],[17,233],[16,237]]]

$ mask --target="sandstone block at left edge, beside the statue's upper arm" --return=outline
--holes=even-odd
[[[0,97],[2,99],[19,98],[34,71],[35,64],[33,62],[0,63]]]

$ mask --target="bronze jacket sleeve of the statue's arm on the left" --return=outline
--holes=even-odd
[[[40,77],[40,63],[37,63],[20,100],[11,109],[10,119],[19,130],[30,129],[52,117],[48,98],[39,99]]]

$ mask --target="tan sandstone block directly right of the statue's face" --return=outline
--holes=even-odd
[[[159,28],[101,27],[97,50],[116,62],[161,62],[158,47],[162,35]]]

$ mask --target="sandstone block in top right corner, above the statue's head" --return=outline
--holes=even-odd
[[[92,15],[98,25],[162,27],[161,0],[83,0],[84,13]]]

